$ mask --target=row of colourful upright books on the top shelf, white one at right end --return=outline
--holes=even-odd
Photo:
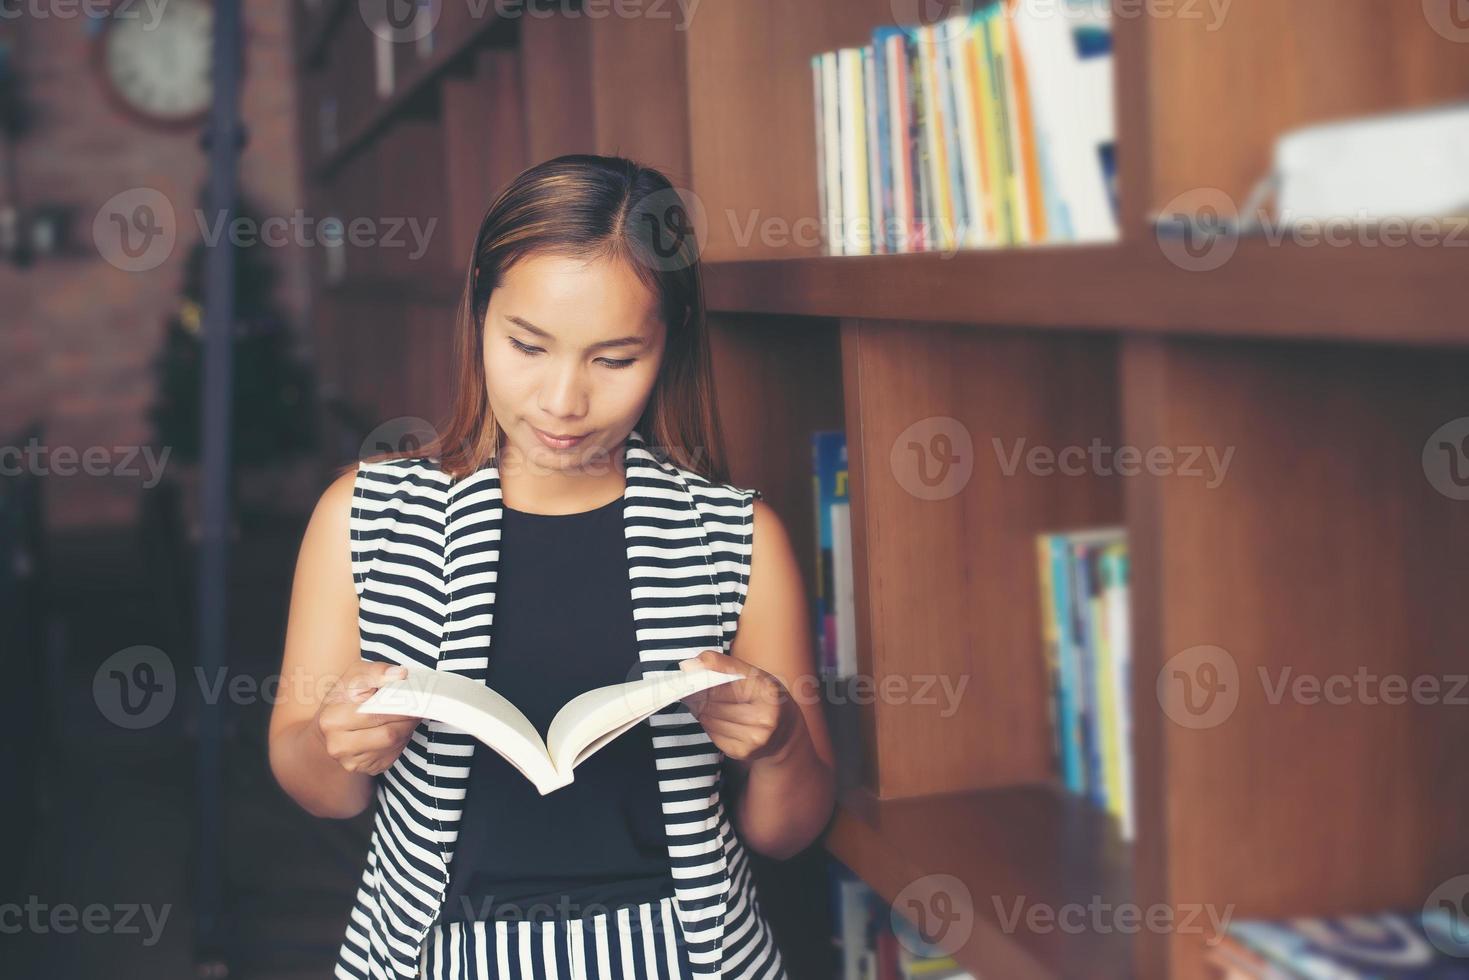
[[[811,78],[829,254],[1118,239],[1105,0],[883,25]]]

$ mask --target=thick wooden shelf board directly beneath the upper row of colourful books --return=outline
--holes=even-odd
[[[1469,344],[1460,245],[1237,242],[1209,272],[1156,241],[708,262],[714,311],[989,326]]]

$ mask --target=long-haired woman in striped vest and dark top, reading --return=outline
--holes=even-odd
[[[726,482],[682,217],[620,157],[517,176],[480,222],[442,436],[345,472],[311,516],[270,764],[314,815],[378,804],[338,977],[784,977],[746,846],[823,832],[831,746],[798,696],[790,542]],[[683,663],[740,679],[541,796],[450,726],[358,714],[407,663],[483,680],[542,736],[589,688]]]

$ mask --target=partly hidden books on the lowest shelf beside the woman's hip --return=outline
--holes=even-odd
[[[975,980],[840,861],[827,862],[840,980]]]

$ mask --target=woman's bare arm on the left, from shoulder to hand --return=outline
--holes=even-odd
[[[281,696],[270,713],[270,771],[316,817],[363,813],[372,804],[373,774],[397,758],[394,743],[401,749],[398,736],[405,741],[416,723],[354,717],[350,707],[391,676],[388,664],[361,660],[348,544],[354,479],[355,472],[338,478],[307,523],[291,586]]]

